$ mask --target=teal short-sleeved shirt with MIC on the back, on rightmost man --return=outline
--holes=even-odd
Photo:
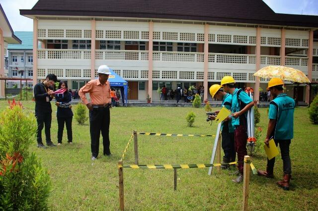
[[[273,137],[275,140],[294,138],[295,101],[286,94],[279,94],[269,104],[268,118],[276,119]]]

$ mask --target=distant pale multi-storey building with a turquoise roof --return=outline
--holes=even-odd
[[[33,78],[33,32],[14,32],[22,41],[21,45],[8,45],[8,77],[10,78]],[[32,80],[22,81],[22,88],[32,88]],[[17,85],[20,88],[20,81],[9,81],[8,87]]]

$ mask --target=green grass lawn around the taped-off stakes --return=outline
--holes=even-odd
[[[7,102],[0,101],[0,111]],[[33,102],[23,102],[34,110]],[[57,143],[56,106],[52,104],[51,137]],[[74,110],[74,109],[73,109]],[[193,110],[194,127],[187,127],[185,116]],[[215,109],[216,110],[216,109]],[[259,109],[263,142],[267,130],[267,109]],[[80,126],[73,121],[73,145],[63,144],[48,149],[31,147],[49,170],[53,187],[49,198],[51,210],[118,210],[117,161],[133,130],[178,134],[215,134],[216,124],[205,121],[203,108],[188,107],[115,107],[111,110],[111,158],[101,154],[90,160],[89,123]],[[45,140],[44,130],[42,131]],[[250,210],[317,210],[318,208],[318,125],[308,118],[308,108],[296,108],[292,159],[291,191],[276,186],[282,178],[282,160],[276,159],[274,179],[250,176]],[[45,141],[44,141],[45,142]],[[140,164],[209,163],[213,137],[138,136]],[[134,145],[129,146],[124,164],[134,164]],[[102,153],[102,144],[100,146]],[[261,150],[252,159],[256,168],[264,169],[266,157]],[[242,184],[234,184],[229,171],[178,169],[177,191],[173,191],[173,170],[124,168],[126,210],[240,210]]]

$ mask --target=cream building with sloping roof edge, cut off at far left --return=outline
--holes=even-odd
[[[14,35],[11,25],[5,16],[0,4],[0,78],[5,77],[5,58],[8,44],[21,44],[21,41]],[[0,80],[0,97],[4,97],[4,81]]]

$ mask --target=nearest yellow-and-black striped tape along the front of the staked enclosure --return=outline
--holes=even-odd
[[[243,162],[243,161],[239,161]],[[207,164],[163,164],[163,165],[154,165],[154,164],[147,164],[147,165],[118,165],[118,168],[166,168],[166,169],[173,169],[173,168],[206,168],[211,166],[221,166],[222,164],[236,164],[239,163],[238,161],[229,162],[229,163],[207,163]],[[247,162],[248,163],[248,162]],[[251,170],[253,174],[257,174],[257,170],[254,165],[249,162]]]

